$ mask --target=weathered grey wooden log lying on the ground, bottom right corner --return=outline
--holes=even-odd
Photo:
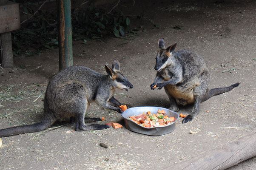
[[[256,156],[256,131],[164,170],[225,170]]]

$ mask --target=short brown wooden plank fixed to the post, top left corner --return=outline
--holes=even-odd
[[[0,5],[0,33],[20,28],[20,11],[18,3]]]

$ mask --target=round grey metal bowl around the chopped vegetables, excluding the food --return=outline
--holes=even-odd
[[[146,113],[148,111],[156,114],[159,109],[164,110],[166,113],[165,115],[168,115],[168,117],[174,117],[175,121],[166,126],[143,127],[141,125],[138,125],[136,122],[128,119],[130,116],[139,115],[140,113],[143,113],[143,112]],[[171,111],[169,109],[166,109],[166,108],[153,107],[153,106],[128,108],[121,115],[125,120],[125,127],[127,129],[129,129],[133,132],[150,135],[150,136],[159,136],[159,135],[171,133],[175,129],[175,124],[176,124],[175,122],[179,119],[178,113]]]

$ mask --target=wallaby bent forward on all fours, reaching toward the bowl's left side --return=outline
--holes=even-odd
[[[0,130],[0,137],[38,132],[50,127],[56,120],[65,117],[75,119],[75,130],[100,130],[108,125],[85,125],[85,122],[100,121],[100,118],[85,118],[85,111],[95,101],[102,108],[119,113],[121,103],[114,98],[116,88],[128,91],[133,85],[121,74],[119,62],[114,59],[112,68],[105,65],[107,75],[83,66],[72,66],[60,71],[49,82],[44,98],[44,116],[33,125],[10,127]],[[111,102],[114,106],[109,105]]]

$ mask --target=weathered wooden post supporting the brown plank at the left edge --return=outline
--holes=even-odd
[[[6,3],[8,3],[8,0],[0,0],[0,5]],[[11,32],[5,32],[0,34],[0,58],[2,61],[2,67],[14,67],[12,56]]]

